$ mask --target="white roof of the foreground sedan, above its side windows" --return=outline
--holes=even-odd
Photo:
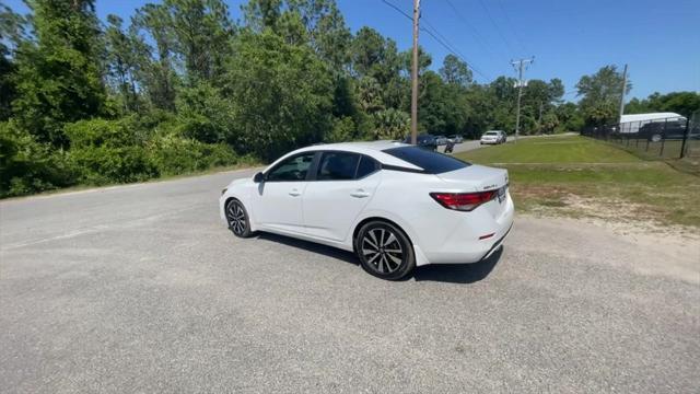
[[[397,165],[397,166],[402,166],[402,167],[412,169],[412,170],[422,170],[421,167],[419,167],[417,165],[413,165],[413,164],[411,164],[409,162],[406,162],[406,161],[404,161],[401,159],[398,159],[398,158],[396,158],[394,155],[390,155],[390,154],[384,152],[384,150],[386,150],[386,149],[400,148],[400,147],[412,147],[412,146],[408,144],[408,143],[402,143],[402,142],[399,142],[399,141],[389,141],[389,140],[320,143],[320,144],[315,144],[315,146],[311,146],[311,147],[301,148],[301,149],[298,149],[298,150],[295,150],[293,152],[284,154],[282,158],[276,160],[275,163],[270,164],[269,167],[271,167],[272,165],[277,164],[280,160],[282,160],[284,158],[288,158],[290,155],[293,155],[293,154],[298,154],[298,153],[302,153],[302,152],[337,150],[337,151],[366,154],[366,155],[377,160],[380,163],[383,163],[383,164],[386,164],[386,165]]]

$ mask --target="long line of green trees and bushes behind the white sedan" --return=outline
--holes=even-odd
[[[0,197],[408,134],[410,48],[368,26],[353,34],[334,0],[250,0],[242,21],[223,0],[147,3],[129,21],[100,21],[94,0],[26,3],[28,15],[0,4]],[[477,83],[453,55],[432,62],[420,48],[421,131],[514,129],[515,79]],[[583,77],[574,104],[561,80],[530,80],[522,129],[609,121],[620,83],[614,66]],[[695,104],[653,95],[630,106],[699,106],[679,94]]]

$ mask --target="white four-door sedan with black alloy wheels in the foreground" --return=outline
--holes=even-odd
[[[415,146],[313,146],[233,181],[219,201],[240,237],[266,231],[354,252],[362,267],[400,279],[416,266],[476,263],[513,224],[508,171]]]

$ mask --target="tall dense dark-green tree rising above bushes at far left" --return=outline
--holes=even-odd
[[[13,113],[19,126],[38,141],[65,148],[63,124],[97,116],[105,108],[94,2],[36,0],[31,4],[37,45],[23,43],[18,48]]]

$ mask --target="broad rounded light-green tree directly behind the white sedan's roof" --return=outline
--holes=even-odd
[[[311,48],[271,32],[243,34],[223,91],[232,102],[240,151],[271,160],[320,141],[331,128],[331,73]]]

